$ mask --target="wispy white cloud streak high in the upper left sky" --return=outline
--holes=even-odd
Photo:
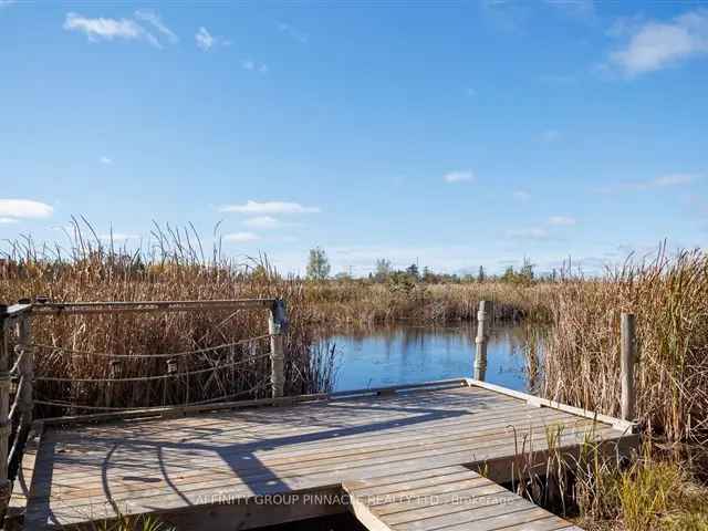
[[[170,42],[177,41],[177,35],[167,28],[159,17],[152,11],[136,11],[135,18],[143,20],[154,27],[157,32],[166,37]],[[148,31],[144,25],[140,25],[135,19],[110,19],[110,18],[88,18],[79,13],[66,13],[64,20],[64,30],[79,31],[84,33],[91,42],[98,41],[113,41],[113,40],[126,40],[126,41],[145,41],[155,48],[163,48],[163,42]]]

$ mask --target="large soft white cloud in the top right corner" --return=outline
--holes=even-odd
[[[611,31],[626,43],[610,53],[608,63],[626,76],[654,72],[680,60],[708,53],[708,9],[697,9],[669,22],[620,21]]]

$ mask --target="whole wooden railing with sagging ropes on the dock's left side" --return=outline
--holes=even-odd
[[[241,340],[216,347],[205,347],[194,351],[164,353],[164,354],[112,354],[74,351],[62,346],[43,345],[32,343],[31,323],[33,317],[45,315],[96,315],[96,314],[123,314],[123,313],[152,313],[152,312],[191,312],[191,311],[219,311],[219,310],[268,310],[268,334]],[[98,409],[105,412],[129,412],[134,408],[114,408],[102,406],[81,406],[58,400],[39,400],[33,397],[34,382],[82,382],[106,384],[106,393],[111,393],[116,383],[142,382],[153,379],[167,379],[178,376],[206,374],[222,368],[232,368],[247,362],[270,357],[271,374],[270,386],[273,398],[283,396],[284,387],[284,337],[288,330],[288,313],[285,302],[282,299],[239,299],[218,301],[135,301],[135,302],[70,302],[58,303],[46,300],[30,302],[20,301],[18,304],[0,304],[0,522],[3,519],[11,494],[13,471],[17,470],[22,457],[22,450],[32,425],[35,404],[72,407],[77,409]],[[9,336],[17,334],[17,356],[12,360],[12,350],[9,348]],[[262,355],[251,355],[238,362],[216,363],[208,368],[177,372],[177,360],[215,352],[219,348],[235,347],[257,341],[270,340],[270,352]],[[112,358],[111,377],[108,378],[63,378],[54,376],[34,375],[34,352],[61,351],[73,355],[94,355],[96,357]],[[159,376],[118,377],[119,364],[127,360],[166,358],[167,374]],[[12,365],[11,365],[12,364]],[[14,386],[14,399],[10,405],[10,395]],[[231,399],[240,394],[251,393],[262,387],[258,384],[251,389],[211,398],[207,400],[188,403],[186,406],[209,404],[220,399]],[[181,405],[184,407],[185,404]],[[154,409],[168,410],[168,407]]]

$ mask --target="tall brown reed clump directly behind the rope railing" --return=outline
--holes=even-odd
[[[156,227],[153,246],[133,254],[104,243],[75,220],[69,250],[38,248],[31,239],[11,242],[0,270],[0,300],[37,295],[52,301],[136,301],[283,298],[289,305],[285,392],[329,391],[332,356],[320,353],[310,326],[304,287],[277,274],[264,257],[236,263],[220,244],[205,253],[194,229]],[[35,375],[110,377],[111,360],[96,353],[163,354],[218,346],[268,333],[266,311],[42,316],[33,319],[33,342],[56,348],[35,353]],[[71,351],[80,351],[74,353]],[[114,384],[38,382],[35,398],[71,407],[40,406],[38,414],[87,413],[95,408],[146,407],[268,396],[269,360],[247,361],[269,351],[268,340],[179,358],[179,372],[244,361],[238,369],[218,368],[169,381]],[[115,371],[116,367],[113,367]],[[121,378],[165,375],[165,358],[122,360]]]

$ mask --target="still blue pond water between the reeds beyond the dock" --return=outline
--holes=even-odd
[[[487,347],[487,382],[533,391],[527,369],[529,330],[498,325]],[[360,389],[472,376],[476,327],[396,325],[330,337],[337,352],[335,389]]]

